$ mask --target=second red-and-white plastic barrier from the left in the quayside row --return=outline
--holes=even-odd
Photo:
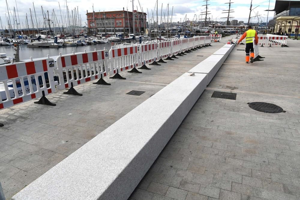
[[[107,76],[108,51],[93,51],[59,55],[57,69],[59,85],[57,89],[63,90],[91,80]]]

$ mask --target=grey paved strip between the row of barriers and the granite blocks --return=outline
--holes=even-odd
[[[32,100],[0,111],[0,181],[9,199],[58,162],[101,133],[144,100],[207,58],[223,43],[149,66],[143,73],[121,72],[126,80],[105,80],[112,85],[91,82],[74,87],[83,96],[46,96],[56,106],[34,104]],[[197,56],[203,55],[203,56]],[[141,96],[131,90],[145,91]],[[122,127],[120,127],[122,128]],[[83,158],[84,159],[84,158]]]

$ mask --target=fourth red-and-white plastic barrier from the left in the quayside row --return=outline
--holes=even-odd
[[[157,43],[143,44],[140,46],[140,65],[157,59]]]

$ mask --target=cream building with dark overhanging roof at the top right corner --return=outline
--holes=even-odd
[[[274,11],[274,18],[268,23],[271,32],[299,33],[300,1],[276,0],[274,9],[269,11]]]

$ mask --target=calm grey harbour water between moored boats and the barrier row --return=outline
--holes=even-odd
[[[19,45],[19,57],[20,61],[27,60],[30,57],[32,58],[43,58],[46,57],[48,54],[49,56],[55,56],[59,55],[61,53],[64,54],[70,54],[73,51],[75,52],[84,52],[86,50],[94,51],[95,48],[97,50],[103,50],[104,47],[106,49],[110,49],[111,43],[103,43],[103,44],[90,44],[90,45],[84,45],[84,46],[72,46],[72,47],[60,47],[60,48],[44,48],[44,47],[27,47],[26,44]],[[6,53],[7,57],[13,56],[15,53],[14,46],[0,46],[0,53]],[[0,63],[4,63],[4,60],[0,59]]]

